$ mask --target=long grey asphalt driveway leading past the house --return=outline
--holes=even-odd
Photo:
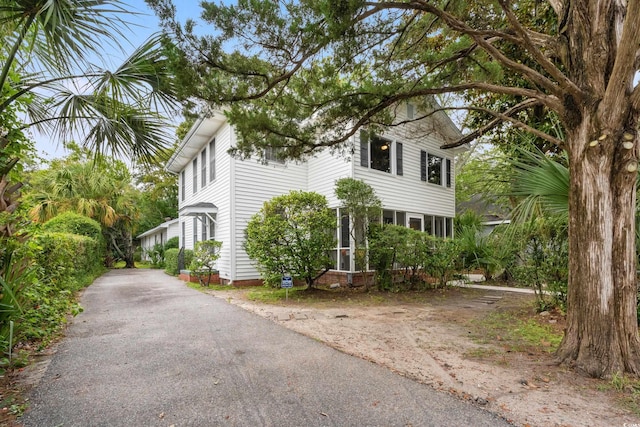
[[[508,425],[162,271],[110,271],[81,303],[26,427]]]

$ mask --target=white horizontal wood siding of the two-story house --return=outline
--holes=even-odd
[[[406,106],[396,110],[397,120],[406,117]],[[416,114],[420,114],[416,111]],[[205,119],[207,120],[207,119]],[[217,120],[217,121],[216,121]],[[430,214],[453,217],[455,214],[455,171],[454,151],[440,150],[441,137],[436,132],[442,124],[411,123],[391,128],[380,135],[384,138],[402,142],[403,175],[396,173],[395,144],[392,145],[392,173],[372,170],[360,166],[359,136],[353,138],[354,154],[351,158],[333,155],[324,150],[306,163],[288,162],[286,165],[271,163],[262,165],[256,159],[237,160],[227,154],[235,145],[235,134],[228,123],[220,117],[198,123],[189,141],[184,143],[175,157],[175,162],[184,165],[185,195],[179,199],[180,208],[199,202],[213,203],[218,208],[216,240],[222,242],[221,257],[218,260],[220,276],[229,280],[257,279],[259,274],[252,261],[246,255],[243,242],[244,230],[251,216],[262,204],[274,196],[286,194],[291,190],[315,191],[327,197],[329,206],[336,207],[338,201],[334,195],[335,181],[343,177],[363,179],[376,190],[385,209],[405,211],[409,214]],[[219,127],[218,127],[219,126]],[[431,126],[429,129],[428,126]],[[217,129],[217,130],[216,130]],[[451,131],[451,129],[449,129]],[[209,133],[216,138],[216,177],[209,181],[207,164],[207,183],[202,188],[201,152],[209,149],[211,138],[204,139]],[[191,139],[193,138],[193,139]],[[197,141],[197,142],[196,142]],[[200,147],[196,145],[202,144]],[[197,150],[197,153],[196,153]],[[439,186],[420,179],[420,150],[451,160],[452,186]],[[194,154],[195,153],[195,154]],[[191,156],[188,163],[183,163]],[[209,159],[210,153],[207,154]],[[197,192],[193,192],[193,158],[198,159]],[[171,162],[170,162],[171,164]],[[174,165],[176,163],[173,163]],[[176,166],[176,169],[182,166]],[[175,171],[175,169],[174,169]],[[182,171],[180,171],[182,172]],[[446,180],[446,176],[443,176]],[[187,249],[194,247],[193,218],[181,217],[176,233],[182,234],[185,225],[185,239],[181,242]],[[198,222],[197,236],[201,236],[201,223]]]

